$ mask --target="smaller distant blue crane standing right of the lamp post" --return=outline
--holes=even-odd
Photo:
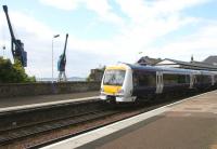
[[[65,74],[65,65],[66,65],[65,51],[66,51],[66,45],[67,45],[67,38],[68,38],[68,33],[66,33],[66,37],[65,37],[65,45],[64,45],[63,54],[60,55],[60,58],[58,62],[58,70],[60,71],[58,81],[62,81],[62,80],[67,81],[66,74]]]

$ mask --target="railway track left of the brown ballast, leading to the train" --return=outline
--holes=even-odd
[[[78,123],[87,122],[90,120],[104,118],[111,114],[117,113],[117,110],[111,110],[111,109],[101,109],[101,110],[94,110],[94,111],[88,111],[80,114],[63,118],[63,119],[56,119],[48,122],[31,124],[27,126],[11,128],[7,131],[0,132],[0,145],[7,145],[12,141],[16,141],[22,138],[29,137],[31,135],[37,135],[40,133],[46,133],[49,131],[66,127],[68,125],[75,125]]]

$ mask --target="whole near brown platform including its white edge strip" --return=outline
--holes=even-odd
[[[51,148],[217,149],[217,91],[44,147]]]

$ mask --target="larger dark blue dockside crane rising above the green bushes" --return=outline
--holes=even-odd
[[[3,11],[5,13],[9,30],[11,33],[11,51],[14,62],[20,60],[23,67],[27,67],[27,52],[24,51],[24,43],[20,39],[16,39],[14,36],[7,5],[3,5]]]

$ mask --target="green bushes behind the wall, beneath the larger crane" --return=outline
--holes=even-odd
[[[21,62],[14,64],[10,59],[0,57],[0,83],[27,83],[36,82],[35,77],[28,77]]]

